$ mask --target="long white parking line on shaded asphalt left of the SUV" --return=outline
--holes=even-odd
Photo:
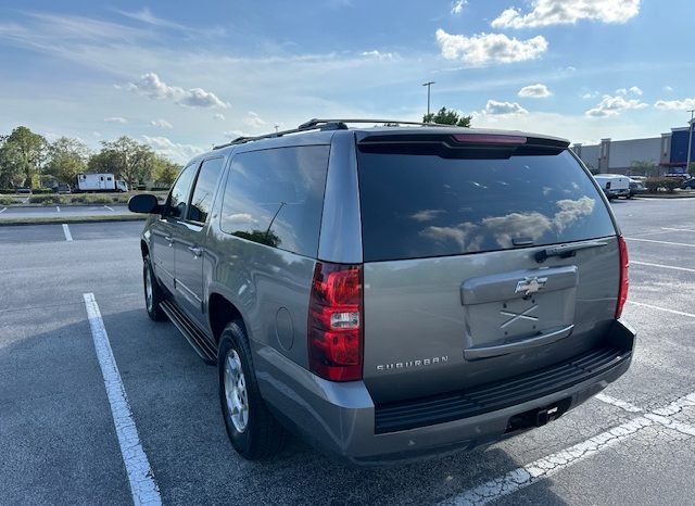
[[[93,293],[85,293],[84,299],[89,317],[91,336],[94,341],[94,350],[97,351],[97,358],[99,359],[101,374],[104,378],[106,396],[109,397],[111,414],[116,428],[116,435],[118,437],[121,455],[123,456],[123,463],[125,464],[126,473],[128,475],[132,503],[136,506],[161,505],[162,497],[160,495],[160,489],[154,482],[150,461],[140,444],[138,429],[135,426],[132,413],[128,404],[128,396],[121,380],[118,366],[113,357],[109,334],[106,334],[106,328],[101,319],[101,312],[97,305],[97,300]]]

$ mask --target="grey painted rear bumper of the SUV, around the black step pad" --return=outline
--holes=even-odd
[[[491,444],[532,427],[519,429],[510,423],[513,417],[557,405],[563,406],[564,413],[580,405],[630,367],[634,332],[616,321],[610,333],[608,340],[622,350],[617,359],[584,377],[574,378],[573,383],[559,383],[551,393],[547,388],[539,389],[538,396],[521,396],[520,402],[513,405],[497,403],[497,406],[504,406],[501,408],[492,403],[490,410],[473,416],[462,412],[464,417],[443,422],[437,422],[434,417],[409,429],[392,426],[384,430],[378,420],[380,416],[384,419],[384,409],[390,407],[375,407],[362,381],[325,381],[273,349],[255,350],[256,375],[268,406],[291,430],[328,454],[359,466],[379,467]],[[414,404],[417,403],[421,405],[422,400]],[[437,409],[450,413],[452,407],[432,407],[428,413]]]

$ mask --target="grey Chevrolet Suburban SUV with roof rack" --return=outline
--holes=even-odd
[[[365,466],[469,450],[628,370],[626,242],[568,141],[346,123],[239,138],[128,204],[148,314],[216,365],[242,456],[286,430]]]

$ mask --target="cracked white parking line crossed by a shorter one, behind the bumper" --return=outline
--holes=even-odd
[[[634,409],[641,410],[639,407],[624,401],[610,397],[609,395],[599,395],[604,397],[599,397],[601,401],[606,402],[606,400],[609,400],[609,404],[620,405],[623,409],[628,406],[628,410],[631,413],[636,413]],[[664,408],[655,409],[644,416],[608,429],[569,448],[561,450],[547,457],[539,458],[504,476],[489,480],[475,489],[442,501],[439,505],[483,505],[491,503],[505,495],[526,489],[545,478],[557,475],[559,471],[637,434],[645,427],[654,426],[654,423],[695,437],[695,427],[679,420],[673,420],[667,416],[667,414],[674,415],[679,413],[685,406],[695,406],[695,393],[685,395]]]

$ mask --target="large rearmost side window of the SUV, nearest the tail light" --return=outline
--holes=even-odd
[[[222,229],[316,256],[328,153],[328,146],[308,146],[237,154],[227,176]]]

